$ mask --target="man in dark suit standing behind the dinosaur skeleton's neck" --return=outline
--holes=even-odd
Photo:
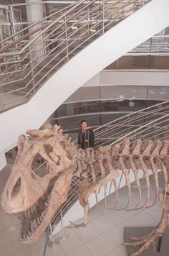
[[[87,147],[94,147],[94,133],[91,127],[87,127],[86,120],[81,121],[81,128],[78,134],[78,145],[85,150]]]

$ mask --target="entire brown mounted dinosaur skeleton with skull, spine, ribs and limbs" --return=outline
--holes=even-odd
[[[20,239],[24,243],[35,242],[42,235],[54,215],[61,209],[72,191],[73,179],[76,178],[76,187],[79,203],[84,208],[84,221],[72,227],[82,227],[87,224],[87,214],[90,209],[88,198],[97,193],[100,188],[105,191],[104,212],[107,208],[107,184],[115,188],[114,210],[136,211],[145,207],[154,206],[160,200],[163,214],[160,223],[153,232],[144,237],[131,237],[127,246],[140,249],[132,256],[140,255],[148,249],[165,232],[169,215],[169,164],[167,140],[149,140],[146,143],[137,140],[130,143],[125,139],[122,143],[112,146],[99,147],[95,152],[92,148],[82,150],[74,143],[70,143],[67,134],[62,129],[49,124],[43,130],[29,130],[27,135],[20,135],[18,140],[18,155],[7,180],[1,197],[1,205],[8,214],[19,214],[21,218]],[[37,173],[34,163],[39,159],[45,160],[46,170],[43,175]],[[43,163],[43,162],[42,162]],[[142,200],[138,170],[143,171],[146,184],[146,198]],[[149,170],[153,172],[155,186],[155,200],[148,204],[150,198]],[[160,193],[158,171],[163,173],[164,187]],[[117,208],[118,189],[117,177],[122,171],[125,175],[128,199],[125,207]],[[133,172],[138,191],[137,204],[130,209],[132,191],[129,171]]]

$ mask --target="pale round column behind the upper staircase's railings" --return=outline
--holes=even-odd
[[[43,17],[44,17],[43,4],[33,4],[35,1],[37,1],[37,0],[26,0],[26,3],[29,4],[26,6],[27,19],[28,19],[28,22],[31,22],[31,23],[37,22],[40,19],[43,19]],[[40,22],[37,25],[34,25],[32,28],[29,29],[29,32],[34,32],[35,29],[42,27],[42,25],[43,25],[42,22]],[[30,40],[32,40],[34,37],[36,37],[40,32],[42,32],[42,30],[39,30],[38,32],[31,35],[29,37]],[[42,42],[42,40],[43,40],[43,36],[39,37],[39,39],[36,40],[33,45],[37,45],[37,43]],[[33,45],[31,45],[31,46],[33,46]],[[34,56],[37,55],[38,52],[43,49],[43,47],[44,47],[44,42],[39,44],[39,46],[37,46],[34,49],[32,58],[34,58]],[[37,61],[33,61],[33,63],[39,62],[39,60],[41,60],[43,57],[44,57],[44,51],[42,51],[42,53],[40,55],[38,55],[39,59]]]

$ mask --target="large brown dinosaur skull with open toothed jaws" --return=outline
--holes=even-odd
[[[1,206],[7,214],[19,214],[21,241],[34,242],[64,202],[73,163],[64,150],[69,148],[70,140],[59,127],[29,130],[27,134],[28,137],[19,136],[18,155],[4,188]]]

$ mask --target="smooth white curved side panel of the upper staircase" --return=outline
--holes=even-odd
[[[163,3],[162,3],[163,2]],[[169,1],[152,0],[79,52],[27,103],[0,115],[0,152],[39,128],[74,91],[126,52],[169,25]]]

